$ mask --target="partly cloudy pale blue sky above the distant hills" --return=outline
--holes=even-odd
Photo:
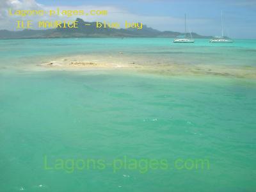
[[[200,35],[221,35],[221,11],[224,33],[231,38],[256,39],[256,0],[0,0],[0,29],[17,30],[19,17],[13,10],[108,10],[107,16],[83,16],[86,21],[142,22],[160,31],[184,31],[184,14],[188,29]],[[62,17],[26,17],[24,20],[67,20]],[[70,20],[76,18],[69,18]]]

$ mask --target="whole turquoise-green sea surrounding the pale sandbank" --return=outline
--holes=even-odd
[[[256,40],[171,42],[0,40],[0,191],[255,191],[256,79],[182,66],[253,72]],[[118,52],[180,73],[29,70]]]

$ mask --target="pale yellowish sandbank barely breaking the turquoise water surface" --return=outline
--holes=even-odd
[[[30,68],[31,69],[31,68]],[[256,79],[256,67],[238,65],[186,64],[119,52],[117,56],[76,55],[36,64],[32,70],[125,70],[163,76],[225,76]]]

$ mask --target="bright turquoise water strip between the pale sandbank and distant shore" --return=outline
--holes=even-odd
[[[170,38],[67,38],[1,40],[1,64],[4,61],[49,60],[56,56],[94,54],[99,57],[115,56],[124,52],[131,58],[157,58],[166,63],[203,65],[256,66],[256,40],[234,40],[234,44],[209,44],[197,39],[195,44],[172,44]],[[12,60],[10,60],[12,58]],[[29,61],[30,61],[29,60]]]

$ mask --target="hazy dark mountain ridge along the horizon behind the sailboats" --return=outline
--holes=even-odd
[[[56,28],[46,30],[24,29],[23,31],[0,30],[0,38],[73,38],[73,37],[170,37],[184,35],[173,31],[158,31],[143,25],[142,29],[96,28],[96,22],[84,22],[77,18],[78,28]],[[84,24],[91,24],[84,26]],[[192,33],[193,38],[211,38]]]

